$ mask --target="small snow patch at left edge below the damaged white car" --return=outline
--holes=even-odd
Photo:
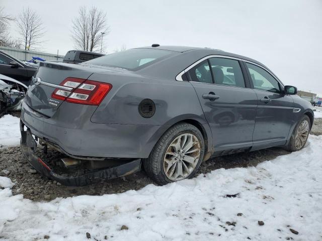
[[[20,144],[19,118],[6,114],[0,118],[0,147]]]

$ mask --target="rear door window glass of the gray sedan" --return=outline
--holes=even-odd
[[[210,58],[215,84],[245,87],[243,72],[234,59]]]

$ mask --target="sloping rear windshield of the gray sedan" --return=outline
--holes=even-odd
[[[173,53],[175,52],[161,49],[130,49],[92,59],[86,63],[135,71],[160,61]]]

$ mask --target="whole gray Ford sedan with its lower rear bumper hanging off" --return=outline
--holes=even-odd
[[[262,63],[208,48],[152,45],[78,65],[43,62],[22,104],[21,148],[64,185],[141,166],[167,184],[193,177],[210,157],[301,150],[314,114],[296,93]],[[67,175],[36,154],[35,140],[64,155]],[[84,172],[68,175],[75,167]]]

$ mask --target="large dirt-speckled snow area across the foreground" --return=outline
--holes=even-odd
[[[257,167],[51,202],[13,196],[3,180],[0,239],[87,240],[89,232],[92,240],[321,240],[321,157],[322,136],[310,136],[303,150]]]

